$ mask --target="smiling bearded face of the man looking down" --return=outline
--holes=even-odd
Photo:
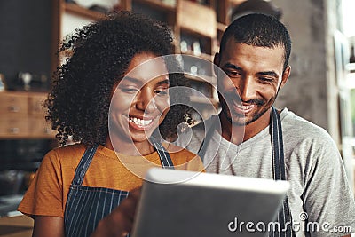
[[[218,89],[224,96],[222,111],[234,125],[256,122],[272,107],[289,75],[289,67],[283,70],[284,53],[281,46],[252,46],[236,43],[233,37],[226,42],[215,63],[229,77],[218,78]]]

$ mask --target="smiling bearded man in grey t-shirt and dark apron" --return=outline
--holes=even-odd
[[[272,107],[291,72],[290,51],[280,21],[257,13],[234,20],[214,59],[226,75],[217,73],[222,111],[193,127],[187,148],[208,172],[287,179],[278,218],[281,229],[292,223],[281,230],[286,236],[353,233],[355,204],[335,142],[287,108]]]

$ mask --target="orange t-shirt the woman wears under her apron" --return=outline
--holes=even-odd
[[[28,216],[64,217],[69,187],[84,151],[85,146],[77,144],[56,148],[46,154],[20,202],[20,212]],[[185,149],[170,152],[170,157],[177,170],[204,170],[201,158]],[[83,186],[130,191],[142,185],[146,170],[156,166],[162,166],[156,152],[146,156],[128,156],[99,146],[85,174]]]

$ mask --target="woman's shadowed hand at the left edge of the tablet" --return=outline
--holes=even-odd
[[[122,200],[117,208],[99,221],[99,225],[91,237],[122,237],[130,233],[139,197],[140,188],[131,190],[129,196]]]

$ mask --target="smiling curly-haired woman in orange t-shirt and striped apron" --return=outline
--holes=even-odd
[[[73,55],[46,101],[63,147],[45,155],[19,206],[35,219],[34,236],[124,236],[139,195],[132,190],[147,169],[203,170],[195,154],[151,138],[158,126],[171,136],[186,114],[170,107],[168,92],[184,80],[157,58],[172,52],[172,41],[161,23],[121,12],[63,44]],[[69,136],[75,145],[65,146]]]

